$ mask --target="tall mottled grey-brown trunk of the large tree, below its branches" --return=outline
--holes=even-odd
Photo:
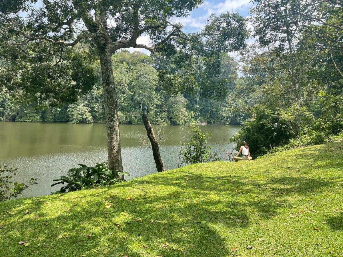
[[[99,45],[98,51],[105,97],[108,166],[113,172],[123,172],[117,111],[118,97],[114,84],[112,53],[107,49],[106,43]],[[121,179],[124,179],[124,176],[121,176]]]

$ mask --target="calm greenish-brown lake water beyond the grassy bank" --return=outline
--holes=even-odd
[[[210,145],[221,157],[225,154],[220,149],[231,151],[229,139],[239,130],[230,125],[200,125],[200,129],[212,134]],[[123,167],[131,175],[127,180],[156,172],[152,150],[141,144],[138,133],[146,135],[144,125],[120,125]],[[177,168],[182,140],[180,126],[166,126],[168,133],[161,143],[166,170]],[[18,182],[39,178],[25,197],[47,195],[60,188],[50,187],[62,175],[60,169],[66,174],[78,163],[94,166],[106,161],[106,142],[105,124],[0,122],[0,164],[19,168]]]

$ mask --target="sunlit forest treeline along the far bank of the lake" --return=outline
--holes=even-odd
[[[96,79],[92,89],[76,102],[51,107],[49,101],[35,99],[28,102],[23,95],[13,95],[3,87],[0,93],[0,119],[24,122],[105,122],[104,94],[100,63],[92,59]],[[237,62],[228,54],[222,54],[222,73],[228,95],[221,100],[201,95],[201,86],[190,93],[169,93],[159,82],[158,71],[162,67],[161,56],[148,56],[142,52],[117,52],[112,57],[116,85],[119,89],[119,121],[122,124],[141,124],[142,111],[155,124],[215,123],[241,124],[246,118],[244,109],[237,109],[234,96],[238,79]],[[217,76],[218,78],[219,76]],[[201,85],[201,79],[196,84]],[[213,83],[215,85],[215,83]],[[215,90],[215,88],[213,88]]]

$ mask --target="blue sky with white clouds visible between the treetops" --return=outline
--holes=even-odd
[[[196,9],[190,12],[187,17],[174,17],[172,22],[181,22],[185,26],[184,32],[196,32],[203,28],[206,20],[211,14],[221,14],[223,12],[238,12],[243,17],[250,16],[250,8],[253,6],[251,0],[204,0],[204,2]],[[141,36],[137,39],[138,44],[150,45],[149,37]],[[149,50],[139,48],[129,48],[130,52],[141,51],[150,54]]]

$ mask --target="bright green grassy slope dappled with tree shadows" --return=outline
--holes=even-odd
[[[8,201],[0,204],[0,255],[341,256],[342,148],[196,164],[112,187]]]

